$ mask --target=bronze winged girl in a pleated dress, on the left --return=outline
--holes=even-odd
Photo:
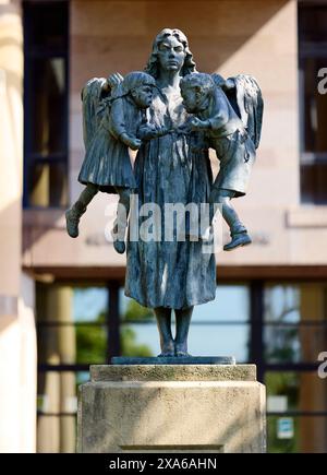
[[[120,84],[113,84],[111,91],[105,79],[88,81],[82,91],[86,154],[78,181],[86,188],[65,213],[71,237],[78,236],[81,216],[98,191],[117,193],[125,213],[122,216],[122,209],[118,210],[112,229],[113,246],[119,253],[125,251],[130,195],[136,189],[129,149],[137,150],[141,139],[161,133],[146,124],[145,110],[152,104],[155,85],[154,78],[136,71],[124,80],[121,78]]]

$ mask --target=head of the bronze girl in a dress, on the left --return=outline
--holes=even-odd
[[[156,81],[142,71],[130,72],[122,83],[123,94],[130,93],[137,107],[146,109],[153,100],[153,90]]]

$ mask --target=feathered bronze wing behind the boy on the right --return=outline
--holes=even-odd
[[[261,141],[264,114],[262,90],[256,80],[249,74],[229,78],[227,83],[234,84],[234,87],[229,91],[229,95],[234,96],[234,100],[231,98],[231,104],[232,106],[237,104],[238,110],[235,111],[242,119],[249,135],[257,149]]]

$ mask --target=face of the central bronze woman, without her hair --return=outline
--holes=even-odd
[[[184,45],[174,36],[168,36],[158,45],[158,60],[165,71],[180,71],[185,59]]]

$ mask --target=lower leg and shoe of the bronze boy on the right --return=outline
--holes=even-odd
[[[232,250],[239,246],[245,246],[251,244],[251,238],[247,235],[246,227],[240,221],[237,211],[231,204],[231,199],[234,198],[234,191],[223,190],[221,188],[214,188],[210,195],[211,205],[214,203],[221,204],[222,217],[230,228],[232,240],[228,245],[223,246],[223,249],[226,251]]]

